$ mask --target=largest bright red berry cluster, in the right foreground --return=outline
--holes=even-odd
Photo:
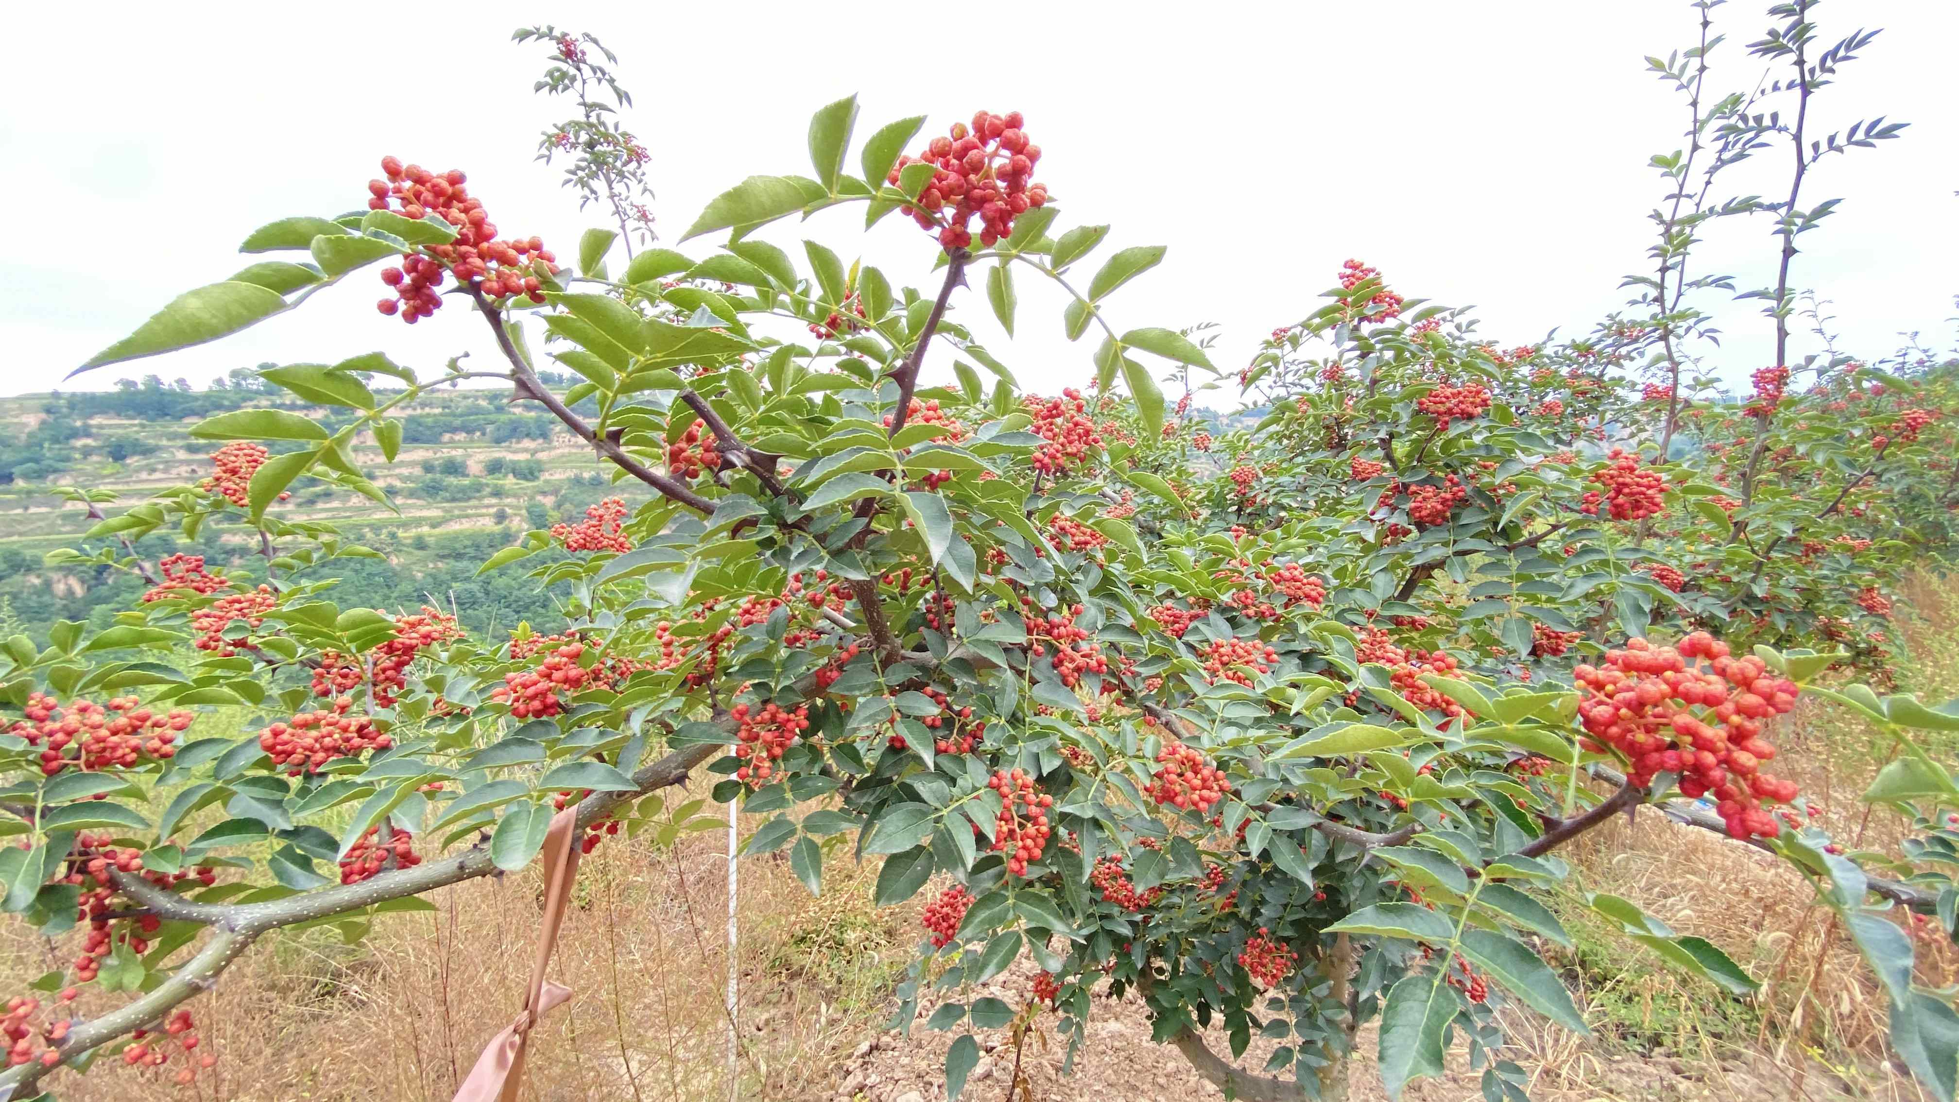
[[[1728,833],[1775,837],[1775,818],[1761,804],[1794,800],[1796,784],[1761,773],[1775,757],[1761,727],[1796,706],[1792,680],[1769,676],[1753,655],[1730,657],[1706,631],[1677,649],[1630,639],[1606,651],[1602,667],[1581,665],[1573,676],[1589,692],[1579,706],[1585,731],[1626,755],[1632,784],[1679,773],[1685,796],[1718,800]]]

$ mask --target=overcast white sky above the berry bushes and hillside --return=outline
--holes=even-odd
[[[1505,345],[1553,326],[1583,331],[1622,304],[1618,280],[1646,269],[1646,212],[1659,196],[1644,163],[1679,147],[1685,122],[1642,57],[1695,35],[1679,0],[1021,6],[985,16],[1001,22],[985,31],[995,49],[978,49],[968,18],[903,8],[476,2],[423,24],[413,8],[347,4],[45,6],[0,75],[12,259],[0,392],[102,388],[151,371],[202,386],[233,367],[370,349],[421,371],[458,351],[486,361],[462,310],[409,329],[374,312],[382,288],[357,273],[237,337],[61,382],[176,292],[243,267],[233,249],[253,227],[360,206],[384,153],[468,171],[505,233],[574,253],[601,218],[580,216],[556,169],[531,161],[537,131],[568,102],[531,94],[543,47],[507,43],[541,8],[619,51],[666,245],[742,176],[807,175],[807,118],[838,96],[860,94],[858,137],[911,114],[940,133],[976,108],[1021,110],[1062,206],[1056,229],[1111,222],[1103,253],[1170,247],[1113,298],[1115,324],[1218,322],[1215,359],[1232,369],[1311,312],[1346,257],[1407,296],[1477,304]],[[1718,10],[1730,35],[1720,86],[1761,71],[1744,43],[1767,25],[1763,8]],[[1834,300],[1847,349],[1890,351],[1904,329],[1949,337],[1959,4],[1832,0],[1818,16],[1832,41],[1887,27],[1816,100],[1818,129],[1873,114],[1912,125],[1812,176],[1808,202],[1845,204],[1808,237],[1798,282]],[[1785,157],[1763,165],[1775,178],[1759,190],[1787,186]],[[895,282],[931,282],[923,233],[891,218],[864,235],[862,208],[844,210],[764,237],[793,247],[813,235]],[[1724,233],[1722,267],[1742,286],[1767,282],[1767,224]],[[1093,341],[1070,345],[1060,308],[1023,276],[1021,337],[987,341],[1025,384],[1054,390],[1091,371]],[[1769,363],[1767,322],[1753,304],[1722,310],[1720,365],[1744,378]],[[960,316],[995,331],[980,294]]]

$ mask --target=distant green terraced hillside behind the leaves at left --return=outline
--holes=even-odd
[[[233,378],[243,386],[190,390],[149,376],[108,392],[0,398],[0,633],[25,629],[39,637],[57,620],[86,620],[141,590],[139,580],[114,571],[43,565],[47,551],[74,543],[90,527],[57,488],[116,490],[119,500],[104,506],[114,514],[161,488],[196,482],[210,475],[208,457],[217,445],[192,439],[188,429],[225,410],[278,406],[329,427],[347,422],[345,410],[253,386],[251,373]],[[400,516],[327,486],[302,486],[280,506],[292,518],[333,522],[384,555],[335,563],[331,576],[343,578],[335,600],[382,608],[454,604],[480,629],[517,620],[558,624],[552,602],[521,582],[523,571],[484,578],[472,573],[525,529],[582,516],[611,484],[576,437],[556,431],[547,414],[509,406],[507,392],[431,392],[406,412],[402,455],[392,465],[378,449],[357,449],[357,461],[394,496]],[[139,551],[147,559],[192,551],[239,565],[253,547],[235,531],[206,531],[196,541],[151,535]]]

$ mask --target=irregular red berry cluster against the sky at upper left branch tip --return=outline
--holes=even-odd
[[[382,298],[376,310],[402,314],[415,324],[443,304],[437,286],[451,271],[456,282],[476,284],[484,298],[527,296],[545,300],[539,276],[556,275],[556,257],[539,237],[498,241],[496,224],[484,204],[468,194],[460,171],[431,173],[421,165],[402,165],[394,157],[380,159],[386,180],[368,180],[368,208],[400,208],[404,218],[433,214],[456,229],[454,241],[425,245],[427,255],[409,255],[398,269],[382,269],[380,280],[394,288],[396,298]]]

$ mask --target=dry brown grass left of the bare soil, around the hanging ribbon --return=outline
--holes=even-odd
[[[533,1033],[527,1098],[729,1098],[725,837],[670,849],[607,837],[586,859],[550,969],[578,994]],[[870,908],[876,865],[842,855],[825,873],[815,900],[788,863],[741,863],[742,1098],[823,1092],[885,1010],[901,957],[889,947],[909,912]],[[358,945],[331,927],[270,935],[192,1004],[204,1051],[219,1055],[194,1088],[170,1082],[176,1063],[51,1086],[65,1102],[445,1102],[523,1002],[539,890],[535,871],[456,884],[429,896],[433,912],[388,916]],[[6,961],[8,990],[51,967],[24,941]]]

